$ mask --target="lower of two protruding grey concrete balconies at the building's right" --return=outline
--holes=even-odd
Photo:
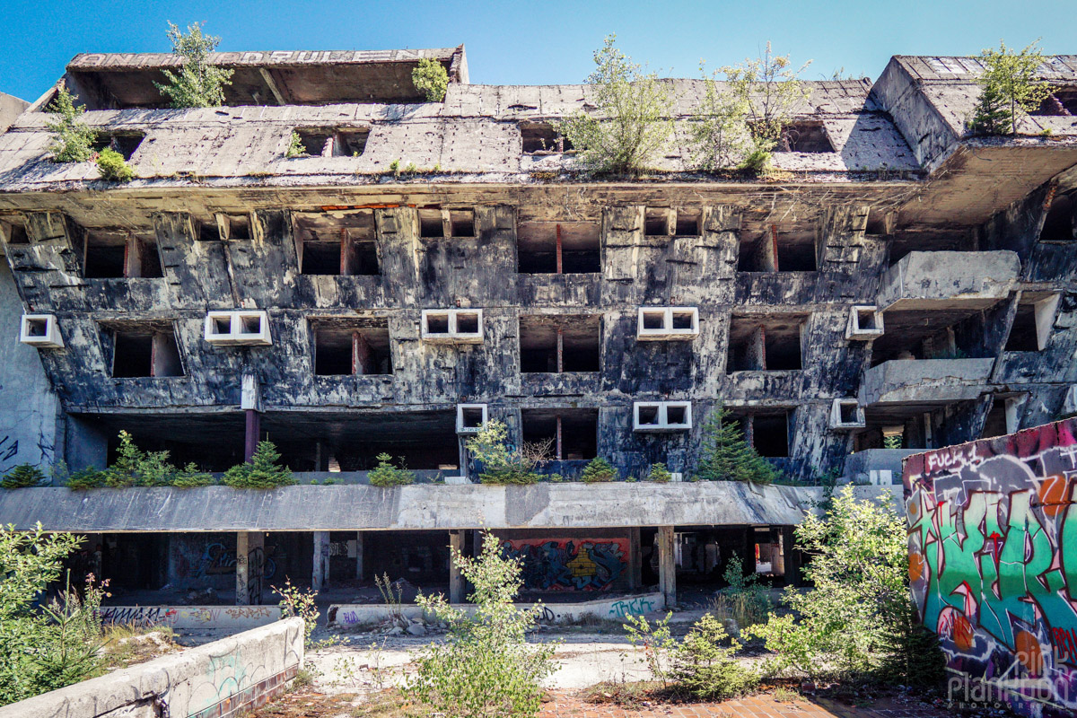
[[[891,360],[864,372],[861,406],[949,404],[984,391],[992,358]]]

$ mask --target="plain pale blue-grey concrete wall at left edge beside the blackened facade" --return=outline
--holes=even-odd
[[[38,350],[18,341],[22,318],[15,279],[0,262],[0,476],[18,464],[39,465],[47,476],[62,440],[59,407]]]

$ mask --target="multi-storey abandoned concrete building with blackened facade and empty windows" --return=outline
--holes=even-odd
[[[796,580],[822,477],[899,483],[917,450],[1077,411],[1077,56],[1006,138],[964,130],[975,59],[807,83],[765,180],[693,169],[702,89],[674,81],[639,181],[575,170],[556,123],[586,86],[473,85],[463,46],[218,54],[214,109],[168,109],[174,62],[79,55],[4,98],[0,469],[102,467],[127,431],[223,471],[268,437],[299,485],[0,492],[0,522],[88,534],[116,601],[382,573],[459,600],[447,547],[484,526],[533,593],[674,601],[735,554]],[[137,179],[50,161],[60,86]],[[689,480],[719,403],[801,485]],[[564,481],[477,484],[493,419]],[[368,485],[380,452],[419,482]],[[620,480],[574,482],[597,456]],[[658,462],[673,482],[643,480]]]

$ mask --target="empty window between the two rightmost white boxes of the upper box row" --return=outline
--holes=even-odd
[[[806,318],[733,316],[729,323],[727,371],[780,371],[803,368]]]

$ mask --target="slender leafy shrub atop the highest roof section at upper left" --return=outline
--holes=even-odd
[[[173,108],[219,108],[224,104],[224,88],[232,84],[232,70],[209,64],[209,54],[220,38],[202,34],[201,26],[193,23],[183,34],[174,24],[168,24],[172,53],[180,56],[179,74],[163,70],[167,84],[153,83],[171,100]]]

